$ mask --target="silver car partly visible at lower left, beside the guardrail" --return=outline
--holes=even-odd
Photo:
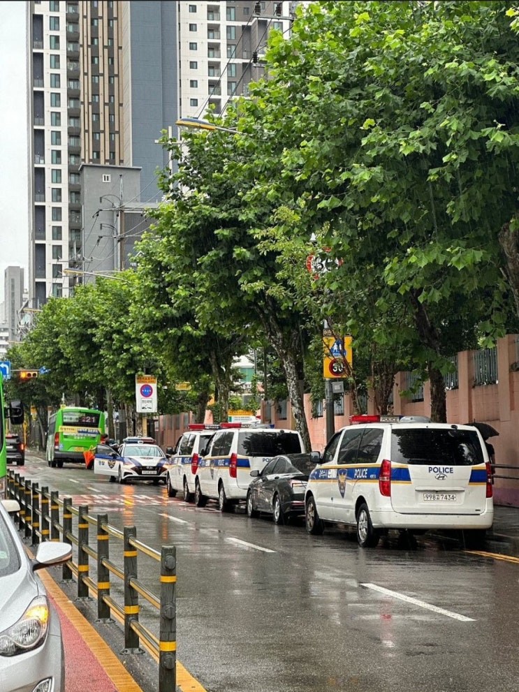
[[[64,562],[71,546],[47,541],[30,559],[0,502],[0,689],[2,692],[64,692],[65,661],[59,615],[36,570]]]

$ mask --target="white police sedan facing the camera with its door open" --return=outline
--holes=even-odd
[[[169,459],[158,445],[142,442],[122,443],[116,451],[98,445],[94,455],[94,473],[110,476],[111,481],[152,480],[166,483]]]

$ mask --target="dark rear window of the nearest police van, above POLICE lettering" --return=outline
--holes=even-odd
[[[483,464],[476,432],[458,429],[393,428],[391,461],[397,464]]]

